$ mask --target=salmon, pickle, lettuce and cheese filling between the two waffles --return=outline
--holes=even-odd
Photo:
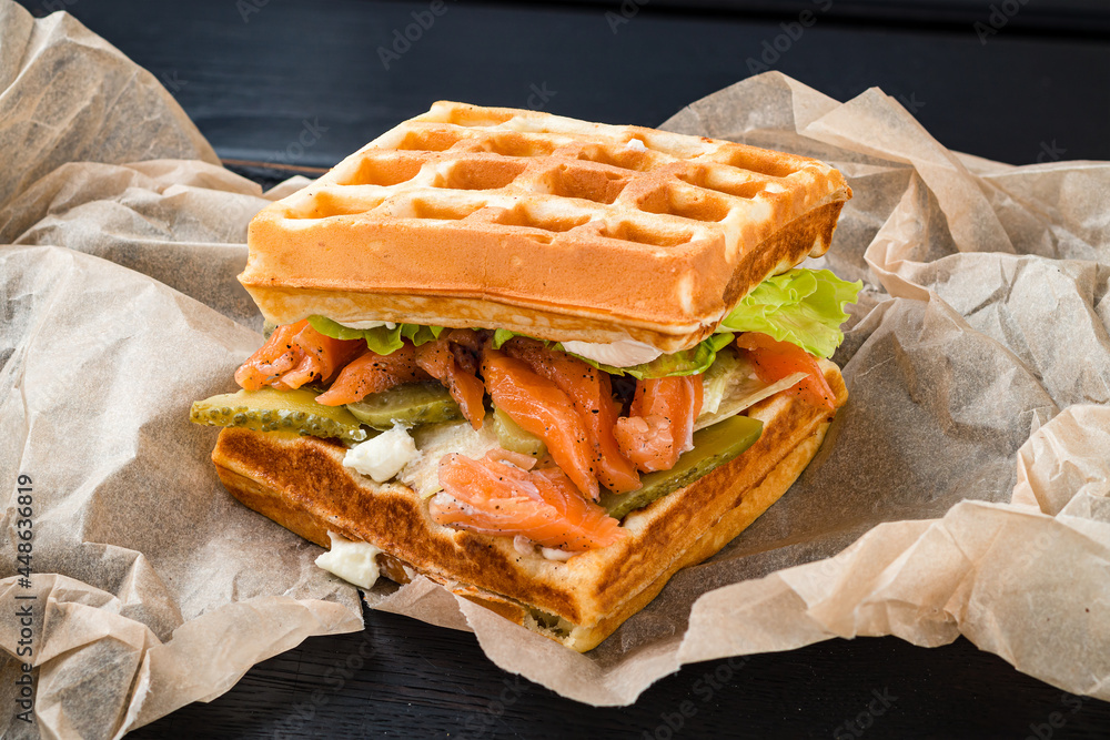
[[[670,354],[310,316],[274,327],[235,373],[243,391],[192,418],[340,439],[347,467],[411,486],[437,524],[565,559],[750,446],[759,423],[744,412],[759,401],[790,389],[833,410],[817,358],[842,341],[859,287],[790,270]]]

